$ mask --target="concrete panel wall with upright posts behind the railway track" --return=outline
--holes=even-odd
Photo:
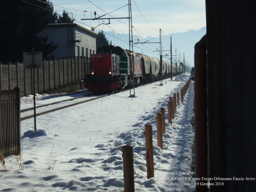
[[[74,58],[72,59],[73,65],[72,65],[72,74],[73,74],[73,83],[75,83],[75,60]],[[51,89],[54,90],[54,61],[51,61]],[[67,66],[67,63],[69,63],[69,66]],[[82,80],[82,64],[81,64],[81,58],[79,58],[79,73],[78,73],[78,60],[76,58],[76,82],[78,82],[78,75],[79,75],[79,80]],[[18,65],[19,68],[19,87],[20,87],[20,95],[21,97],[25,96],[25,80],[24,80],[24,68],[23,68],[23,63],[19,63]],[[69,86],[71,84],[71,59],[64,60],[64,68],[65,68],[65,85]],[[9,75],[8,75],[8,65],[7,64],[2,64],[1,65],[2,69],[2,90],[9,90]],[[11,69],[11,89],[17,86],[17,64],[11,63],[10,65]],[[31,89],[31,71],[32,69],[25,69],[26,70],[26,94],[30,95],[32,94],[32,89]],[[35,92],[38,93],[38,78],[37,78],[37,71],[38,69],[35,70]],[[63,61],[60,59],[60,74],[59,74],[59,61],[55,60],[55,79],[56,79],[56,88],[59,88],[59,76],[60,76],[60,87],[63,87]],[[68,81],[69,78],[69,81]],[[83,76],[84,78],[84,76]],[[45,85],[44,85],[45,84]],[[49,64],[48,60],[45,60],[45,66],[44,70],[43,68],[39,68],[39,92],[43,93],[44,92],[44,87],[45,91],[49,92]]]

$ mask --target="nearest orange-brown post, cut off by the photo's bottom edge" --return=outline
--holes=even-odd
[[[124,191],[135,192],[134,169],[133,169],[133,148],[131,145],[123,146],[124,164]]]

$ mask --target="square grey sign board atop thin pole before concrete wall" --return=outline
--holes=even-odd
[[[24,68],[32,67],[32,52],[23,52],[23,66]],[[43,52],[35,52],[34,66],[43,68]]]

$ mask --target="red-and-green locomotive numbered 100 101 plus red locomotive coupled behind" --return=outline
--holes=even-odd
[[[118,46],[104,46],[97,54],[92,54],[91,62],[85,65],[84,87],[94,92],[122,90],[129,85],[133,75],[134,83],[140,84],[143,77],[140,55],[130,54]]]

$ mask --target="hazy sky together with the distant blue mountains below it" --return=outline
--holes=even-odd
[[[127,43],[129,39],[124,38],[124,36],[127,37],[126,34],[129,34],[128,19],[111,19],[108,25],[105,24],[107,24],[109,20],[104,20],[105,24],[102,24],[102,20],[81,20],[94,18],[94,11],[96,11],[97,17],[102,16],[102,18],[128,17],[129,8],[127,0],[52,0],[52,4],[58,5],[54,6],[54,10],[59,14],[62,14],[63,9],[65,9],[66,12],[72,12],[73,18],[76,19],[75,23],[87,29],[96,27],[96,32],[103,30],[109,42],[112,41],[114,45],[129,49],[129,43]],[[155,0],[131,0],[131,4],[132,34],[137,35],[136,38],[140,38],[140,42],[145,42],[152,38],[153,39],[149,42],[159,42],[157,38],[160,35],[161,29],[162,50],[170,49],[170,34],[185,33],[189,30],[198,31],[206,27],[204,0],[161,0],[159,2]],[[109,15],[105,15],[106,13],[109,13]],[[109,36],[108,34],[115,35]],[[176,54],[176,49],[178,54],[181,53],[181,55],[183,55],[184,53],[186,63],[193,67],[194,45],[205,33],[200,34],[201,33],[199,33],[200,37],[198,38],[190,34],[191,40],[188,42],[185,42],[182,36],[173,39],[172,55]],[[155,37],[156,39],[154,39]],[[124,40],[126,42],[125,44],[122,42]],[[143,47],[143,50],[135,48],[135,52],[143,52],[148,56],[160,59],[158,52],[159,44],[137,44],[137,47]],[[166,52],[163,52],[163,55],[165,54]],[[167,59],[163,59],[170,61],[168,57]],[[183,57],[181,60],[183,60]]]

